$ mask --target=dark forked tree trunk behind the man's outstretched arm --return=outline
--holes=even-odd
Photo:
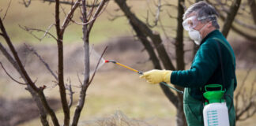
[[[156,48],[157,54],[160,56],[160,61],[163,62],[165,69],[175,70],[175,67],[171,63],[171,58],[168,57],[168,54],[164,48],[164,45],[162,44],[162,39],[160,38],[160,35],[156,32],[153,32],[145,23],[143,23],[141,20],[139,20],[134,13],[130,12],[130,8],[126,5],[126,1],[123,0],[115,0],[115,2],[118,4],[120,9],[123,13],[125,13],[128,20],[130,20],[130,24],[134,31],[137,34],[137,37],[141,40],[141,43],[145,46],[145,49],[149,53],[149,57],[152,60],[152,63],[155,67],[155,69],[161,69],[159,60],[156,57],[156,54],[154,50],[152,49],[152,46],[149,43],[149,39],[154,44],[154,47]],[[182,5],[181,5],[182,6]],[[177,52],[181,57],[179,57],[179,61],[177,64],[179,64],[180,69],[184,69],[184,59],[183,59],[183,26],[182,26],[182,15],[184,13],[184,10],[179,13],[181,18],[181,22],[179,23],[179,31],[181,33],[178,35],[176,40],[179,41]],[[170,89],[164,85],[160,85],[162,88],[162,91],[164,91],[164,95],[168,97],[168,99],[173,103],[173,105],[177,108],[177,125],[184,126],[186,125],[186,119],[183,113],[183,95],[175,95]],[[177,87],[179,90],[183,90],[181,87]]]

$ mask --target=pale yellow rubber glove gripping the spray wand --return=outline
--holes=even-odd
[[[170,83],[171,81],[171,70],[158,70],[152,69],[149,72],[144,72],[140,78],[144,78],[148,83],[156,84],[160,82]]]

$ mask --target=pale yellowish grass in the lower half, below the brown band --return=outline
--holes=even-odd
[[[254,79],[254,73],[248,78],[248,82]],[[237,76],[239,83],[245,76],[246,71],[239,69]],[[118,77],[117,77],[118,76]],[[47,78],[47,76],[45,76]],[[76,74],[70,74],[73,83],[77,82]],[[129,80],[127,80],[129,79]],[[17,88],[9,83],[5,89],[17,91],[17,94],[26,94],[24,89]],[[6,85],[2,83],[1,86]],[[14,87],[14,88],[13,88]],[[248,87],[249,88],[249,87]],[[74,100],[77,101],[78,89],[74,87],[76,94]],[[22,92],[21,92],[22,91]],[[58,98],[58,87],[47,89],[45,91],[47,98]],[[17,95],[11,94],[10,98],[15,98]],[[28,95],[26,96],[28,97]],[[74,112],[75,105],[71,109]],[[140,80],[137,74],[127,71],[111,70],[101,71],[96,74],[96,78],[92,85],[88,88],[88,93],[85,102],[85,108],[81,113],[81,121],[97,120],[110,117],[116,111],[122,111],[131,119],[145,120],[152,125],[174,125],[175,124],[175,107],[168,102],[163,92],[158,85],[151,85],[144,80]],[[57,116],[62,122],[62,109],[59,109]],[[254,125],[256,116],[249,120],[239,122],[238,125]],[[49,120],[50,117],[48,117]],[[164,122],[162,122],[164,121]],[[163,124],[161,124],[163,123]],[[40,124],[40,118],[28,121],[20,126],[32,126]]]

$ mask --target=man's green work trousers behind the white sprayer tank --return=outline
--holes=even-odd
[[[227,89],[226,94],[231,96],[232,98],[226,97],[226,102],[228,106],[228,116],[229,116],[229,124],[230,126],[235,126],[235,108],[233,104],[233,93],[234,92],[234,84]],[[203,126],[203,102],[197,100],[190,96],[190,88],[185,88],[184,96],[183,96],[183,109],[186,116],[186,123],[188,126]]]

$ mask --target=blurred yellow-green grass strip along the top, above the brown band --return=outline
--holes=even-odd
[[[128,1],[129,6],[133,12],[136,13],[137,17],[139,17],[142,21],[145,21],[145,17],[149,10],[146,4],[147,1]],[[176,3],[172,3],[175,5]],[[3,14],[6,12],[6,6],[8,5],[8,1],[1,1],[0,2],[0,9],[2,12],[0,16],[3,17]],[[152,9],[152,13],[156,12],[156,7],[154,6],[153,2],[149,1],[150,9]],[[188,5],[187,5],[188,6]],[[69,11],[70,6],[63,6],[65,8],[66,13]],[[4,24],[6,29],[9,33],[10,38],[13,40],[14,43],[38,43],[39,41],[35,39],[32,35],[28,34],[27,31],[22,30],[19,28],[19,24],[21,26],[27,26],[28,28],[40,28],[40,29],[47,29],[51,24],[55,22],[55,4],[52,3],[51,5],[47,4],[47,2],[43,3],[40,1],[33,1],[32,4],[25,8],[20,1],[13,0],[9,12],[7,14],[6,20],[4,20]],[[110,1],[109,5],[107,6],[107,11],[104,12],[99,19],[96,20],[96,24],[92,28],[92,33],[90,36],[91,43],[102,43],[109,38],[115,38],[120,35],[132,35],[132,29],[126,20],[126,17],[119,17],[116,20],[109,20],[112,16],[115,15],[123,15],[122,12],[117,12],[116,9],[119,9],[117,5],[115,5],[114,1]],[[150,11],[149,11],[150,12]],[[168,16],[170,13],[173,17],[176,17],[177,10],[175,8],[164,6],[162,13],[160,15],[160,20],[163,23],[164,27],[166,28],[168,35],[171,37],[175,37],[175,31],[173,29],[176,28],[177,20],[171,19]],[[79,11],[74,16],[74,19],[79,20]],[[63,20],[64,14],[61,13],[61,20]],[[149,13],[149,24],[153,24],[155,17]],[[62,21],[61,21],[62,22]],[[220,23],[221,24],[221,23]],[[160,32],[162,37],[163,31],[160,27],[152,28],[154,31]],[[55,27],[51,28],[51,33],[55,33]],[[39,38],[43,36],[43,33],[34,32]],[[55,34],[54,34],[55,35]],[[186,34],[185,34],[186,35]],[[72,42],[81,42],[82,32],[81,32],[81,25],[72,24],[66,29],[64,43],[72,43]],[[231,33],[229,35],[230,39],[237,38],[237,35]],[[3,41],[0,38],[0,41]],[[54,43],[55,40],[51,38],[43,39],[42,43]]]

